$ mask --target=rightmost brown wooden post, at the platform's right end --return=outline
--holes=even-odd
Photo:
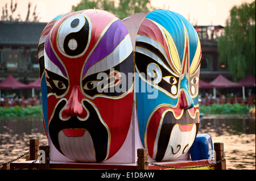
[[[214,142],[214,151],[216,153],[216,162],[220,161],[224,155],[224,144],[222,142]],[[216,170],[226,170],[226,159],[220,163],[216,163]]]

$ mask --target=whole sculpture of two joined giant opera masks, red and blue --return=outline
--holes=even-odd
[[[143,147],[152,159],[169,161],[195,140],[195,29],[167,10],[143,15],[130,33],[124,23],[106,11],[82,10],[56,17],[40,37],[44,125],[49,142],[73,161],[124,162],[135,157],[126,148]]]

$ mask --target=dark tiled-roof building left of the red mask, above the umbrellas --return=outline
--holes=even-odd
[[[24,83],[39,77],[38,41],[46,24],[0,21],[0,81],[10,74]]]

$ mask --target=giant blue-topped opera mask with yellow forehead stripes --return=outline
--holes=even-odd
[[[135,92],[141,141],[156,161],[179,158],[195,140],[200,59],[187,19],[168,10],[146,15],[135,43]]]

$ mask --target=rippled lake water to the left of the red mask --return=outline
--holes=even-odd
[[[30,139],[39,138],[40,145],[48,145],[43,119],[26,117],[22,119],[0,118],[0,163],[9,162],[30,149]],[[19,161],[25,161],[25,157]]]

